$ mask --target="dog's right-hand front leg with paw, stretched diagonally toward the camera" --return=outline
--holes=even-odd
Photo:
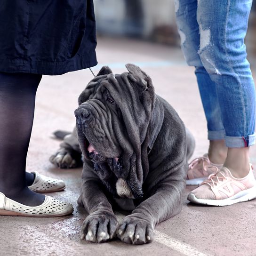
[[[164,180],[154,188],[154,194],[126,216],[117,236],[126,243],[144,244],[154,239],[154,227],[178,214],[182,208],[184,181]]]

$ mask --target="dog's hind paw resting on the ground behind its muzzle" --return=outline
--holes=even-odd
[[[76,168],[82,165],[81,154],[65,148],[59,149],[49,158],[50,162],[58,168]]]

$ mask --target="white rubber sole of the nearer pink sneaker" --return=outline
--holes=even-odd
[[[196,198],[194,194],[188,194],[188,200],[192,203],[213,205],[213,206],[227,206],[235,203],[246,202],[256,198],[256,186],[249,188],[247,190],[240,191],[239,193],[233,195],[230,198],[222,200],[210,200],[210,199],[200,199]]]

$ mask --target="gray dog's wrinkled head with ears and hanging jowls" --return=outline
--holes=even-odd
[[[154,136],[150,123],[155,94],[145,72],[133,64],[126,67],[122,74],[103,67],[79,96],[75,116],[84,158],[94,162],[102,180],[116,179],[118,195],[138,198]]]

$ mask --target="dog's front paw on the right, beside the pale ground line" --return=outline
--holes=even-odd
[[[138,216],[128,215],[117,230],[118,238],[128,244],[145,244],[154,239],[153,225]]]

